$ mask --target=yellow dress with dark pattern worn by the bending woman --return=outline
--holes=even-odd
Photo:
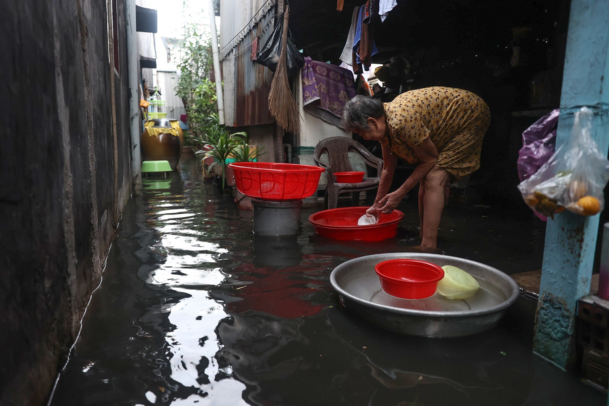
[[[438,150],[436,165],[446,169],[454,181],[480,167],[490,110],[476,94],[436,86],[402,93],[384,105],[390,139],[381,144],[393,155],[417,164],[414,149],[429,137]]]

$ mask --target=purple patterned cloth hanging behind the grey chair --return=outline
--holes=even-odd
[[[329,111],[339,117],[339,124],[336,119],[332,121],[328,119],[326,114],[311,113],[310,108],[306,111],[340,127],[342,109],[345,107],[345,103],[353,99],[356,94],[351,71],[306,57],[305,66],[302,69],[302,79],[303,105]]]

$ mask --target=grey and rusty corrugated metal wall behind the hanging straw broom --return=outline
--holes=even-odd
[[[260,46],[264,45],[273,30],[275,22],[275,0],[255,0],[252,4],[244,5],[249,9],[244,18],[243,9],[238,6],[242,0],[223,1],[220,16],[222,18],[220,39],[224,50],[222,70],[224,72],[224,104],[225,121],[227,125],[242,127],[246,125],[272,124],[275,120],[270,115],[268,97],[272,72],[266,66],[250,60],[252,41],[259,37]],[[261,9],[262,7],[262,9]],[[266,12],[262,13],[262,11]],[[252,19],[252,13],[259,12],[249,25],[252,29],[243,29]],[[231,14],[233,13],[233,14]],[[239,21],[239,23],[236,23]],[[241,24],[241,25],[238,25]],[[238,37],[233,37],[238,34]],[[240,41],[236,41],[241,37]],[[228,40],[228,41],[227,41]],[[227,49],[233,46],[227,53]],[[220,52],[222,58],[223,52]]]

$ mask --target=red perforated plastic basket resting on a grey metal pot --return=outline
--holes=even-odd
[[[234,183],[244,195],[268,200],[290,200],[309,197],[317,191],[319,177],[325,169],[319,166],[239,162],[229,164]]]

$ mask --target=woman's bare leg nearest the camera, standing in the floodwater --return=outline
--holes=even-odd
[[[423,248],[434,249],[438,245],[438,227],[444,209],[444,186],[450,174],[438,166],[434,166],[424,178],[425,191],[423,195]]]

